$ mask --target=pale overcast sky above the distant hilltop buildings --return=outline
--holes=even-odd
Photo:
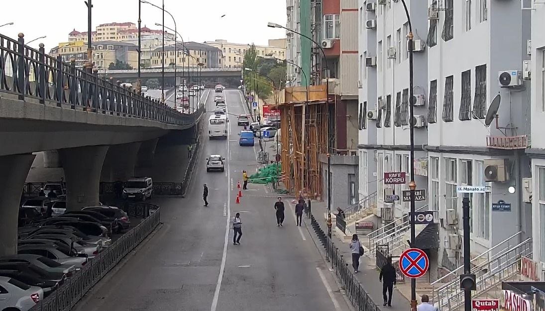
[[[267,22],[286,24],[285,0],[164,0],[165,9],[176,19],[178,32],[185,41],[225,39],[235,43],[266,45],[268,39],[284,38],[283,29],[268,28]],[[46,51],[59,42],[68,41],[72,29],[87,31],[87,7],[83,0],[0,0],[2,14],[0,33],[25,40],[43,35],[47,38],[31,43],[45,44]],[[161,7],[161,0],[149,0]],[[92,0],[93,31],[95,26],[110,22],[138,21],[138,0]],[[225,17],[221,17],[225,14]],[[142,27],[159,29],[161,10],[142,3]],[[174,28],[172,18],[165,14],[165,26]]]

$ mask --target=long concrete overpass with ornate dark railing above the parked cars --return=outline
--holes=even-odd
[[[66,206],[78,210],[98,204],[101,175],[124,181],[137,164],[150,165],[160,140],[185,150],[203,103],[192,111],[178,113],[63,63],[42,44],[26,46],[23,34],[17,40],[0,34],[0,256],[16,253],[17,214],[34,152],[45,151],[48,165],[63,167]]]

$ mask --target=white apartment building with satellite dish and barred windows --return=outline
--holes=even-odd
[[[439,235],[438,244],[414,246],[428,253],[433,279],[463,262],[463,194],[456,186],[487,187],[470,195],[472,258],[518,232],[510,247],[531,237],[522,186],[530,176],[524,153],[530,82],[522,72],[530,58],[530,14],[519,1],[405,2],[415,40],[415,181],[427,194],[416,208],[437,211],[432,225]],[[407,184],[383,183],[384,172],[406,172],[410,180],[409,24],[402,2],[394,0],[360,0],[359,15],[359,191],[360,197],[377,191],[377,215],[389,223],[385,215],[397,219],[409,210],[408,202],[384,200],[393,192],[401,197]],[[501,76],[504,86],[501,72],[507,74]],[[498,117],[487,127],[498,94],[499,110],[492,113]],[[496,204],[500,200],[510,208]]]

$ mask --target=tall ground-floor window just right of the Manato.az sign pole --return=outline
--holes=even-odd
[[[477,164],[477,186],[485,185],[485,163],[483,161],[475,161]],[[485,240],[490,239],[490,192],[475,193],[475,216],[473,225],[477,237]]]

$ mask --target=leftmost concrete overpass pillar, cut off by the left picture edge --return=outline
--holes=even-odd
[[[0,256],[17,253],[17,215],[23,185],[35,154],[0,157]]]

